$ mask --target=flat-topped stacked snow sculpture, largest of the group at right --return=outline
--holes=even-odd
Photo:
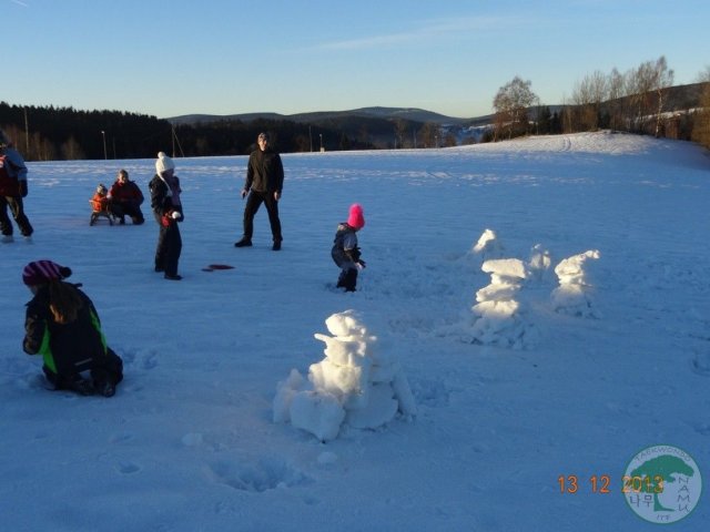
[[[516,295],[527,277],[523,260],[503,258],[486,260],[481,269],[490,274],[490,284],[476,293],[477,305],[471,307],[476,316],[473,341],[520,349],[530,338],[530,329],[520,315]]]

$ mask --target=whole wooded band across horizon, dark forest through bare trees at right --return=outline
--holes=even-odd
[[[592,72],[569,101],[550,108],[515,76],[493,100],[493,123],[480,142],[520,135],[611,129],[688,140],[710,147],[710,66],[693,85],[673,86],[666,58],[620,73]],[[325,114],[325,113],[324,113]],[[159,151],[180,156],[245,155],[267,131],[282,153],[454,146],[474,142],[455,127],[413,120],[327,115],[312,122],[257,119],[171,124],[120,111],[19,106],[0,102],[0,127],[28,161],[146,158]],[[462,140],[463,139],[463,140]]]

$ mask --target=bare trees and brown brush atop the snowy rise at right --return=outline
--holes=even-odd
[[[710,68],[696,84],[672,83],[673,71],[662,55],[625,73],[596,71],[578,81],[569,102],[552,112],[540,104],[529,80],[515,76],[494,98],[486,140],[610,129],[710,147]]]

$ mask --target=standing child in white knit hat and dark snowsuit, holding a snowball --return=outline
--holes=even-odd
[[[158,246],[155,248],[155,272],[164,278],[180,280],[178,262],[182,252],[182,237],[178,222],[183,221],[180,198],[180,180],[175,175],[175,164],[163,152],[155,161],[155,176],[148,187],[151,191],[151,208],[158,222]]]

